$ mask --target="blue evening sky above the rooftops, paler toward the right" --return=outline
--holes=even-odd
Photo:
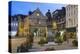
[[[56,9],[61,9],[61,7],[65,7],[64,4],[55,4],[55,3],[36,3],[36,2],[21,2],[21,1],[12,1],[11,5],[11,15],[15,14],[24,14],[27,15],[28,11],[34,11],[39,8],[40,11],[45,14],[48,9],[51,12]]]

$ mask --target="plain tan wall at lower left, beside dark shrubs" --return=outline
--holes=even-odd
[[[11,39],[11,49],[12,49],[12,52],[16,52],[17,51],[17,47],[20,46],[24,42],[26,42],[26,38],[25,37],[12,38]]]

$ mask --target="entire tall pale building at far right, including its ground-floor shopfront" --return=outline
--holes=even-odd
[[[78,28],[78,5],[66,6],[66,31],[69,37],[77,36]]]

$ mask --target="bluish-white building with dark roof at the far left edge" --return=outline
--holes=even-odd
[[[18,19],[17,15],[9,16],[9,36],[14,37],[16,35],[16,31],[18,30]]]

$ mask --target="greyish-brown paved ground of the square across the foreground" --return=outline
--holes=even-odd
[[[69,39],[69,42],[65,41],[63,42],[61,45],[43,45],[43,46],[40,46],[38,44],[33,44],[33,47],[32,49],[30,49],[29,51],[44,51],[46,48],[51,48],[53,47],[55,50],[66,50],[66,49],[77,49],[78,47],[73,47],[72,46],[72,40],[73,39]]]

